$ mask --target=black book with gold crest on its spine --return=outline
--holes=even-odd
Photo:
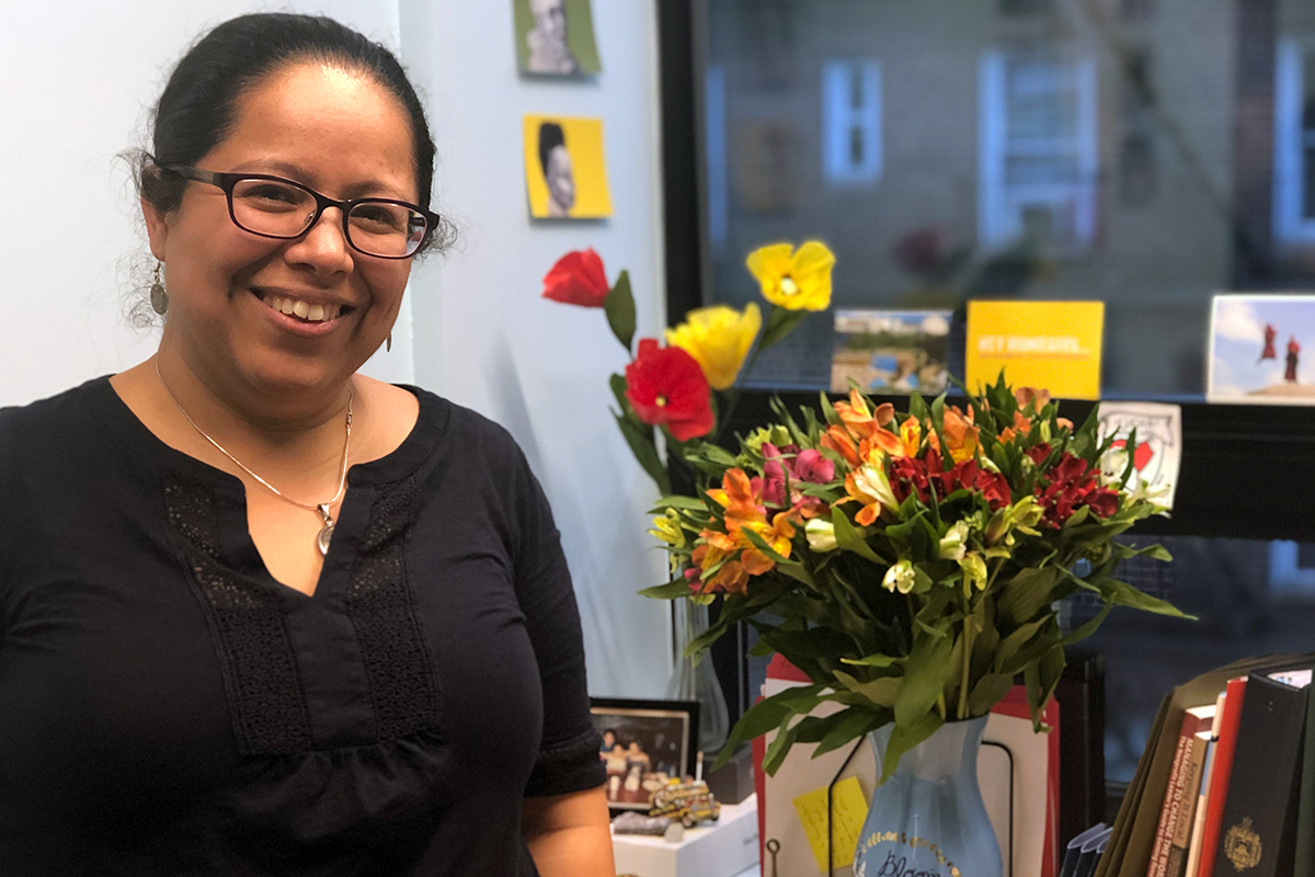
[[[1306,689],[1264,673],[1247,678],[1215,877],[1293,873],[1297,763],[1304,723]]]

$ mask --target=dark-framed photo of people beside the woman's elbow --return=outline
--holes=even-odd
[[[697,701],[590,698],[608,765],[608,806],[647,810],[652,793],[693,776],[698,743]]]

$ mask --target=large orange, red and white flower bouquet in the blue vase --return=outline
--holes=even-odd
[[[739,622],[810,685],[750,709],[740,742],[778,730],[764,768],[794,743],[827,752],[893,722],[882,781],[943,723],[985,715],[1022,675],[1034,723],[1064,668],[1064,647],[1114,606],[1181,615],[1114,577],[1132,548],[1114,536],[1165,511],[1126,485],[1132,463],[1078,427],[1044,392],[1003,376],[965,408],[913,396],[907,413],[859,391],[776,422],[732,454],[680,447],[698,496],[665,496],[651,533],[673,580],[650,597],[723,601],[697,655]],[[1128,443],[1135,447],[1135,440]],[[1056,604],[1090,592],[1099,614],[1065,634]],[[825,701],[843,709],[809,715]],[[802,717],[802,718],[801,718]]]

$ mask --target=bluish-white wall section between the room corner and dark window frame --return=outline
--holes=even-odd
[[[655,488],[608,413],[608,375],[627,356],[601,312],[539,298],[568,250],[592,246],[609,279],[629,268],[639,334],[663,325],[656,7],[594,3],[604,72],[593,82],[521,79],[512,0],[401,0],[402,59],[426,93],[441,212],[460,239],[412,276],[421,385],[506,426],[543,483],[584,615],[594,694],[658,697],[669,675],[664,581],[644,535]],[[525,113],[604,120],[614,216],[531,224]]]

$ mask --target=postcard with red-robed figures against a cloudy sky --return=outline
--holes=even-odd
[[[1210,312],[1206,401],[1315,405],[1312,354],[1315,296],[1218,295]]]

